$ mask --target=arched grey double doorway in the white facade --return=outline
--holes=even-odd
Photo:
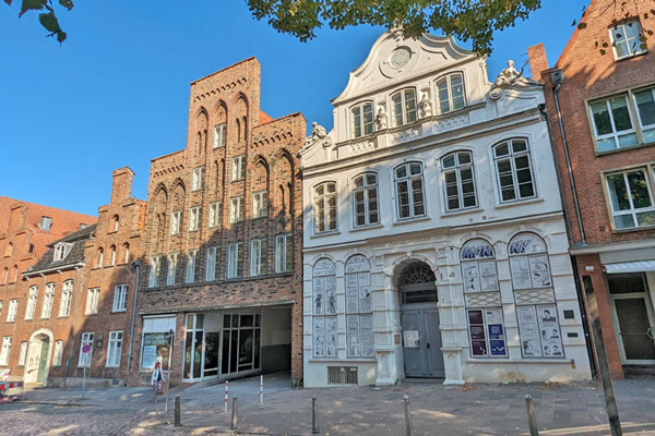
[[[414,262],[398,278],[406,377],[444,377],[437,278],[430,266]]]

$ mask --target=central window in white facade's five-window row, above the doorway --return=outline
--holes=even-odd
[[[426,215],[422,164],[407,162],[394,169],[396,208],[400,219]]]

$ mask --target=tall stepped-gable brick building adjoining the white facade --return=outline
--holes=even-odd
[[[187,147],[151,164],[132,364],[142,382],[156,360],[172,383],[301,377],[305,131],[299,113],[260,110],[254,58],[191,83]]]

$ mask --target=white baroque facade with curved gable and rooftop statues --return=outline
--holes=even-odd
[[[383,34],[303,172],[306,386],[591,377],[541,88]]]

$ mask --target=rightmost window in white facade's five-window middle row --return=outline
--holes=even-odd
[[[501,202],[536,196],[527,140],[508,140],[495,145],[493,160]]]

